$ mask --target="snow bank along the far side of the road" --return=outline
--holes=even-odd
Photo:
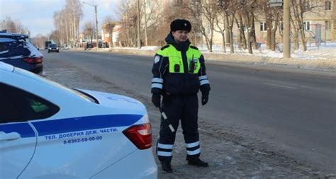
[[[197,47],[208,60],[336,71],[336,42],[322,43],[320,47],[316,47],[314,43],[308,43],[306,52],[301,49],[296,51],[292,49],[290,59],[283,58],[282,44],[277,45],[274,52],[267,50],[266,45],[261,44],[258,50],[253,50],[253,54],[249,54],[248,50],[238,48],[237,45],[235,45],[234,54],[230,53],[230,47],[226,47],[224,53],[221,45],[213,45],[213,52],[208,52],[206,45],[197,45]],[[159,48],[159,46],[145,46],[140,49],[138,47],[113,47],[99,49],[99,51],[154,56]]]

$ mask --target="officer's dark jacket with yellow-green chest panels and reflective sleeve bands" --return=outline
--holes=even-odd
[[[201,86],[210,88],[203,55],[191,45],[181,51],[174,45],[162,47],[155,54],[152,73],[152,93],[189,95]]]

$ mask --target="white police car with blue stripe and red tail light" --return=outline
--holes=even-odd
[[[0,62],[0,178],[157,178],[147,110]]]

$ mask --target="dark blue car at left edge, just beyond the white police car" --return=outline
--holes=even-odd
[[[45,76],[43,54],[28,42],[28,35],[0,31],[0,62]]]

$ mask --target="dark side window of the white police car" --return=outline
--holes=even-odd
[[[43,98],[4,83],[0,83],[0,109],[0,123],[45,119],[60,110]]]

